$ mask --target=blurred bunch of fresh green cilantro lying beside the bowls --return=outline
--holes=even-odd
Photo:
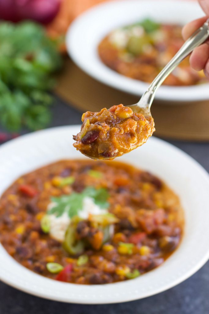
[[[56,44],[33,22],[0,23],[0,123],[9,131],[50,122],[48,91],[61,67]]]

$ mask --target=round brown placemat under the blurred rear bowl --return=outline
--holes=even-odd
[[[103,107],[109,108],[120,103],[131,105],[138,101],[136,96],[118,91],[91,78],[67,57],[64,69],[58,77],[55,92],[82,112],[99,111]],[[155,136],[209,141],[209,101],[165,105],[163,101],[154,101],[152,105]]]

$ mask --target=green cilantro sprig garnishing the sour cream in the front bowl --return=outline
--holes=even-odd
[[[107,202],[109,193],[105,188],[95,189],[95,187],[86,187],[81,193],[73,192],[68,196],[62,195],[51,198],[55,206],[47,214],[55,214],[56,217],[60,217],[66,212],[72,218],[78,215],[78,212],[82,209],[85,197],[93,198],[94,203],[100,208],[106,209],[109,207],[109,203]]]

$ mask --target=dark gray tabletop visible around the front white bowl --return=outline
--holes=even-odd
[[[81,113],[58,99],[53,112],[51,126],[81,123]],[[209,171],[209,143],[169,142],[191,155]],[[208,293],[209,262],[170,290],[143,300],[113,305],[76,305],[44,300],[0,283],[0,314],[208,314]]]

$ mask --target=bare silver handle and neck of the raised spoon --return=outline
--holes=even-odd
[[[183,46],[168,62],[165,68],[156,76],[150,84],[148,90],[142,95],[137,104],[129,105],[134,112],[142,113],[146,118],[151,117],[150,107],[154,100],[154,95],[159,86],[164,82],[165,78],[179,65],[179,63],[187,57],[196,47],[200,46],[209,37],[209,19],[195,31],[191,37],[185,41]]]

